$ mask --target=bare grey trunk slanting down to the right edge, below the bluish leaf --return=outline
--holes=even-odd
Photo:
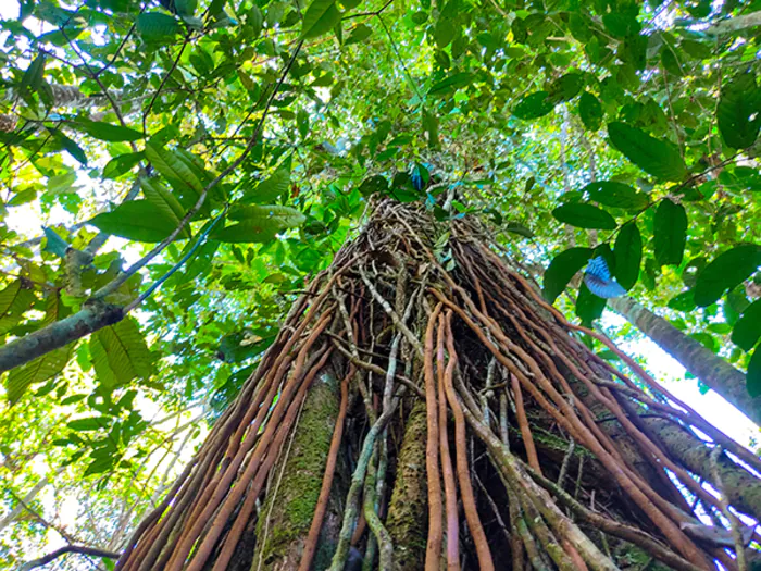
[[[745,375],[740,371],[632,298],[613,298],[609,303],[614,311],[656,342],[687,371],[719,393],[746,417],[761,424],[761,397],[753,398],[748,394]]]

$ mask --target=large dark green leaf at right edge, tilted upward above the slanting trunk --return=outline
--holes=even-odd
[[[761,265],[761,246],[740,244],[716,257],[698,274],[695,284],[695,302],[707,307],[719,300],[726,289],[732,289],[750,277]]]

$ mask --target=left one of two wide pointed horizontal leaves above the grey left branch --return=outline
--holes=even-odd
[[[148,200],[130,200],[111,212],[98,214],[89,224],[101,232],[136,241],[161,241],[177,223]]]

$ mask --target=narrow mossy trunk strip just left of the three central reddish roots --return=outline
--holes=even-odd
[[[407,420],[386,521],[396,547],[394,567],[398,571],[417,571],[425,561],[428,531],[425,442],[425,402],[419,400]]]

